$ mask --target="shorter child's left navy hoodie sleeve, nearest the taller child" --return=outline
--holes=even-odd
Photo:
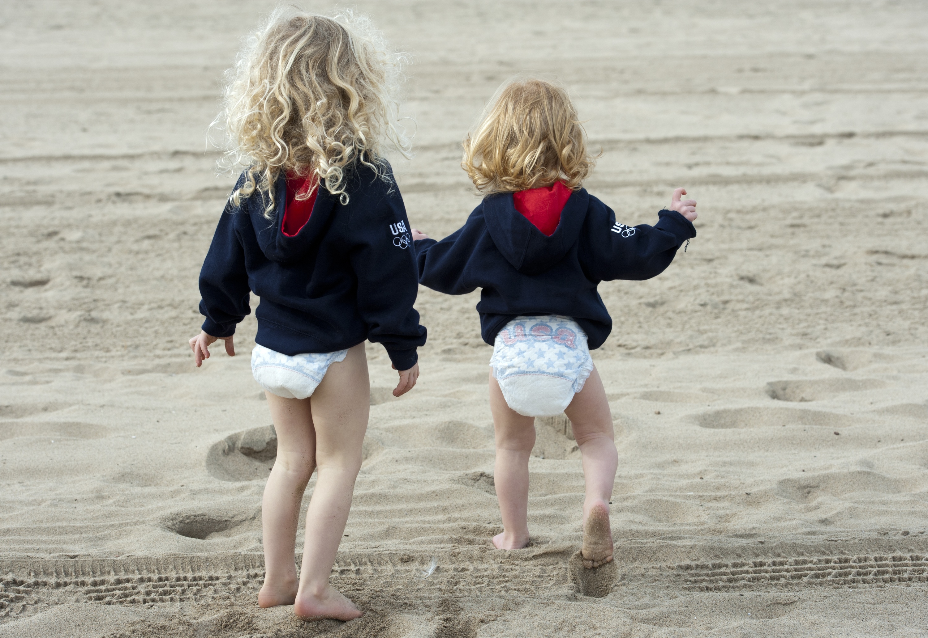
[[[441,241],[419,239],[419,283],[445,295],[466,295],[477,287],[468,279],[468,262],[485,230],[483,217],[471,213],[467,223]]]

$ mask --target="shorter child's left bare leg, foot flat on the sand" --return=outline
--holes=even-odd
[[[490,373],[490,411],[496,431],[496,468],[493,481],[503,532],[493,537],[496,549],[519,549],[528,544],[528,460],[535,446],[535,417],[509,407]]]

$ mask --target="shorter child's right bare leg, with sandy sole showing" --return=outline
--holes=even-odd
[[[583,455],[586,498],[583,504],[583,562],[586,568],[598,568],[612,561],[612,530],[609,525],[609,500],[619,463],[612,431],[612,413],[599,371],[586,379],[581,391],[564,413],[574,427],[574,439]]]

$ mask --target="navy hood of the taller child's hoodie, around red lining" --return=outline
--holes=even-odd
[[[305,255],[311,254],[318,248],[322,237],[326,235],[334,215],[338,199],[332,197],[324,183],[320,183],[316,193],[316,203],[309,221],[303,225],[300,232],[294,236],[286,236],[283,232],[283,206],[287,202],[287,179],[284,175],[277,178],[274,185],[274,201],[276,210],[274,217],[264,217],[266,195],[260,191],[245,200],[243,209],[251,216],[251,225],[264,256],[272,262],[292,263],[300,261]]]

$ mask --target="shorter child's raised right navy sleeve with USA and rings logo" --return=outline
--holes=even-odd
[[[599,281],[650,279],[674,261],[677,249],[696,229],[677,211],[660,211],[658,223],[626,226],[602,205],[603,214],[591,217],[586,227],[586,249],[581,260],[587,274]]]

